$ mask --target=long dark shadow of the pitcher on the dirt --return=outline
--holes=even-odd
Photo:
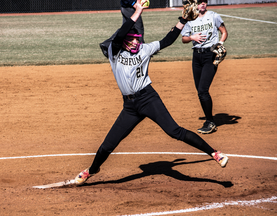
[[[184,161],[184,160],[186,160],[186,159],[176,159],[174,161],[157,161],[157,162],[148,163],[148,164],[141,164],[139,166],[139,168],[143,171],[142,173],[134,174],[134,175],[131,175],[131,176],[126,176],[126,177],[124,177],[122,179],[118,179],[118,180],[84,183],[81,186],[92,186],[92,185],[98,185],[98,184],[119,184],[119,183],[123,183],[123,182],[132,181],[132,180],[135,180],[135,179],[144,178],[146,176],[161,175],[161,174],[164,174],[164,175],[169,176],[171,178],[175,178],[175,179],[180,180],[180,181],[211,182],[211,183],[215,183],[215,184],[221,184],[224,187],[232,187],[234,185],[230,181],[218,181],[218,180],[214,180],[214,179],[186,176],[186,175],[172,169],[172,167],[178,166],[178,165],[191,164],[191,163],[201,163],[201,162],[210,161],[210,160],[213,160],[213,159],[176,163],[178,161]],[[221,168],[218,167],[218,169],[221,169]]]

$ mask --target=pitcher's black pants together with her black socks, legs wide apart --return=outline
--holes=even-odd
[[[156,122],[170,137],[181,140],[208,155],[212,156],[215,150],[209,146],[196,133],[180,127],[171,117],[163,104],[158,93],[148,85],[144,88],[146,92],[134,99],[124,99],[123,109],[117,117],[111,130],[108,132],[104,142],[99,147],[94,161],[89,169],[89,174],[94,174],[104,163],[117,145],[127,137],[131,131],[145,117]],[[142,134],[143,136],[143,134]]]

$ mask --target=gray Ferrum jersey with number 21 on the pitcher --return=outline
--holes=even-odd
[[[150,56],[160,50],[160,42],[143,43],[137,53],[120,50],[112,56],[112,47],[109,46],[109,60],[112,72],[122,94],[134,94],[151,84],[148,76]]]

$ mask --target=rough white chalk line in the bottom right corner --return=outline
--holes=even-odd
[[[257,205],[263,202],[274,202],[277,199],[276,196],[267,198],[267,199],[258,199],[258,200],[250,200],[250,201],[231,201],[231,202],[221,202],[221,203],[211,203],[206,206],[202,207],[195,207],[195,208],[189,208],[189,209],[181,209],[181,210],[175,210],[175,211],[166,211],[166,212],[152,212],[152,213],[146,213],[146,214],[135,214],[135,215],[121,215],[121,216],[152,216],[152,215],[168,215],[168,214],[178,214],[178,213],[184,213],[184,212],[196,212],[199,210],[207,210],[207,209],[216,209],[221,208],[226,205],[244,205],[244,206],[250,206],[250,205]]]

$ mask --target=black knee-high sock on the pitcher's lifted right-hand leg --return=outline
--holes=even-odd
[[[211,146],[209,146],[208,143],[205,142],[205,140],[203,140],[196,133],[190,130],[186,130],[186,135],[182,141],[193,146],[194,148],[198,148],[199,150],[204,151],[211,157],[212,153],[214,153],[215,151]]]

